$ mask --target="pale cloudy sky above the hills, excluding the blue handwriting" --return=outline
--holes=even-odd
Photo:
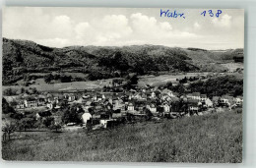
[[[183,14],[168,18],[160,10]],[[208,13],[212,10],[214,17]],[[218,10],[222,14],[216,17]],[[201,15],[206,11],[206,15]],[[204,49],[244,47],[242,9],[5,7],[2,36],[65,47],[164,45]]]

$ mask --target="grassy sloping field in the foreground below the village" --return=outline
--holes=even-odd
[[[4,160],[241,162],[242,114],[232,111],[86,134],[16,133]]]

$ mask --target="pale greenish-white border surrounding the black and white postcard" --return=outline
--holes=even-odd
[[[255,0],[2,0],[3,6],[43,6],[43,7],[125,7],[125,8],[239,8],[245,11],[245,74],[243,107],[243,163],[240,164],[195,164],[195,163],[116,163],[116,162],[6,162],[4,168],[43,167],[256,167],[256,1]],[[2,22],[1,22],[2,23]],[[1,27],[2,29],[2,27]],[[2,36],[2,30],[1,30]],[[0,42],[2,48],[2,40]],[[0,50],[2,56],[2,50]],[[2,59],[0,59],[2,65]],[[2,68],[2,66],[1,66]],[[0,74],[2,84],[2,72]],[[2,89],[0,89],[2,97]]]

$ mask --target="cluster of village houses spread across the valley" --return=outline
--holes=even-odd
[[[18,113],[30,115],[36,121],[50,118],[53,125],[65,131],[82,128],[97,130],[136,121],[205,115],[224,108],[231,110],[241,107],[243,102],[242,96],[210,98],[200,92],[181,94],[149,84],[130,89],[123,89],[120,84],[108,84],[89,90],[24,93],[15,98],[6,98]],[[76,117],[63,112],[65,109],[71,111],[71,106],[75,107],[72,113]],[[65,121],[64,115],[68,118]]]

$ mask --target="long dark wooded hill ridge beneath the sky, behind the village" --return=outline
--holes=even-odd
[[[3,84],[14,84],[32,73],[83,73],[88,75],[88,80],[99,80],[124,77],[128,73],[197,72],[205,71],[207,67],[199,62],[229,60],[232,56],[233,51],[223,55],[202,49],[160,45],[53,48],[28,40],[3,38]],[[211,71],[216,68],[213,66]]]

